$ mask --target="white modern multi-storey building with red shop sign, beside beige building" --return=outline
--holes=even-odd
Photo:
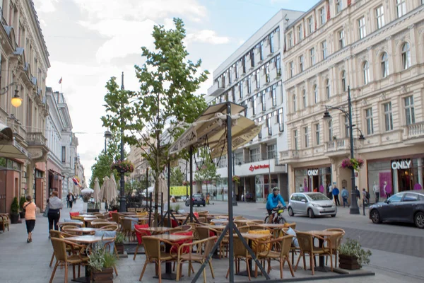
[[[213,71],[213,86],[208,89],[206,102],[211,105],[232,101],[245,105],[245,115],[264,123],[252,142],[234,152],[233,175],[240,176],[235,195],[245,195],[248,201],[264,201],[269,187],[280,187],[287,195],[287,171],[278,163],[278,151],[287,150],[285,131],[285,99],[283,30],[303,12],[280,10]],[[225,154],[225,153],[223,153]],[[209,192],[218,200],[226,200],[227,158],[216,160],[220,179],[208,185]],[[196,171],[196,170],[194,170]],[[198,190],[206,192],[206,184]],[[211,189],[212,187],[212,189]]]

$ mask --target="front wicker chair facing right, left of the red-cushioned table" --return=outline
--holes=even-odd
[[[143,237],[143,243],[144,243],[144,250],[146,252],[146,261],[144,262],[143,270],[141,271],[140,279],[143,278],[144,271],[146,270],[146,266],[148,263],[156,263],[158,264],[158,275],[159,275],[159,283],[162,283],[162,270],[160,267],[160,264],[165,261],[175,261],[177,258],[175,258],[170,253],[165,253],[163,250],[160,250],[160,242],[165,242],[170,244],[171,246],[174,246],[174,243],[161,240],[159,238],[151,237],[151,236],[144,236]]]

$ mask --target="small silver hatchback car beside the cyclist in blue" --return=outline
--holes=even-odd
[[[290,195],[288,215],[294,216],[295,214],[307,215],[310,218],[323,215],[335,217],[337,207],[321,192],[295,192]]]

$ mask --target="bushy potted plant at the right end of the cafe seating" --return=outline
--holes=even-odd
[[[348,238],[346,243],[338,247],[338,263],[340,268],[358,270],[370,263],[370,250],[364,250],[359,241]]]

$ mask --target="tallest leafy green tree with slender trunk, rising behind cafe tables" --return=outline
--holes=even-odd
[[[106,112],[103,125],[125,131],[125,141],[139,146],[155,179],[155,223],[158,223],[159,175],[171,158],[168,147],[184,132],[187,124],[206,109],[204,96],[194,93],[206,81],[208,71],[199,71],[201,60],[189,60],[184,46],[186,31],[181,19],[175,29],[155,25],[155,49],[141,47],[146,63],[135,66],[139,91],[119,89],[116,79],[107,82]]]

